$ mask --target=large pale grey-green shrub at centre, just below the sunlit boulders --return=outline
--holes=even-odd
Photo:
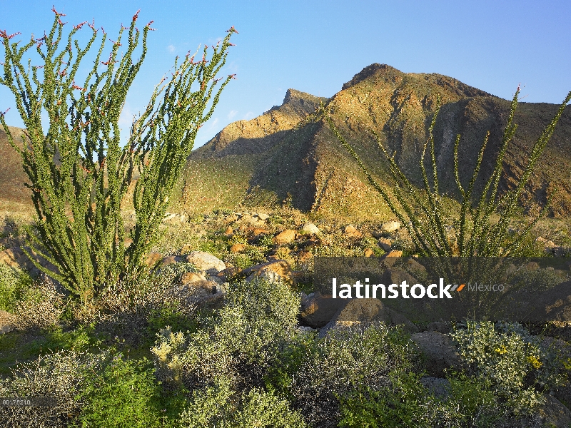
[[[162,329],[152,348],[158,379],[188,389],[224,378],[261,384],[264,367],[297,322],[299,297],[281,283],[238,282],[226,305],[195,333]]]

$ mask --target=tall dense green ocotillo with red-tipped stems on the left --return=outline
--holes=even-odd
[[[216,75],[226,63],[230,38],[236,31],[231,28],[222,43],[213,46],[209,60],[205,47],[200,60],[195,62],[194,56],[187,55],[175,62],[171,77],[163,78],[146,110],[133,118],[128,142],[122,147],[119,116],[146,56],[152,21],[143,27],[138,55],[138,12],[131,26],[121,26],[116,41],[111,41],[108,58],[103,55],[108,36],[101,29],[94,66],[79,86],[76,78],[81,61],[98,39],[99,30],[88,24],[93,34],[82,49],[74,35],[86,23],[74,26],[64,37],[64,14],[53,11],[49,34],[41,39],[32,36],[24,46],[11,42],[16,34],[0,32],[5,56],[0,83],[14,93],[26,139],[17,144],[4,114],[0,121],[21,156],[38,215],[29,257],[85,301],[105,282],[136,277],[145,270],[143,258],[156,243],[168,197],[198,128],[211,117],[221,91],[233,77]],[[128,30],[126,40],[124,30]],[[125,52],[121,56],[122,44]],[[23,63],[32,48],[41,58],[39,66],[31,66],[31,60]],[[43,112],[49,119],[47,130],[42,126]],[[126,248],[121,203],[136,169],[141,174],[133,200],[136,227],[133,243]],[[42,261],[53,267],[44,267]]]

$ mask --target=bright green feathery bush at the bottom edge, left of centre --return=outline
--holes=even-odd
[[[121,354],[106,355],[100,369],[90,372],[76,395],[81,411],[73,426],[161,427],[176,419],[183,398],[161,397],[161,385],[149,363],[126,360]]]

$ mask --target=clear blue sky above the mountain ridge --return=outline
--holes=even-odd
[[[281,104],[288,88],[333,96],[375,62],[442,73],[502,98],[511,98],[521,83],[520,99],[527,102],[560,103],[571,91],[570,0],[0,0],[0,29],[20,31],[24,41],[41,35],[53,22],[52,4],[69,26],[95,19],[111,39],[137,9],[141,25],[154,20],[125,118],[146,105],[176,55],[216,44],[235,26],[226,73],[238,79],[195,147],[228,123]],[[0,111],[12,107],[6,120],[21,126],[14,106],[11,93],[0,88]]]

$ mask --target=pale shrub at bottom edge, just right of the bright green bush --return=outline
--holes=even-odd
[[[303,428],[305,422],[289,403],[271,392],[253,388],[241,393],[228,384],[193,392],[177,421],[181,428]]]

